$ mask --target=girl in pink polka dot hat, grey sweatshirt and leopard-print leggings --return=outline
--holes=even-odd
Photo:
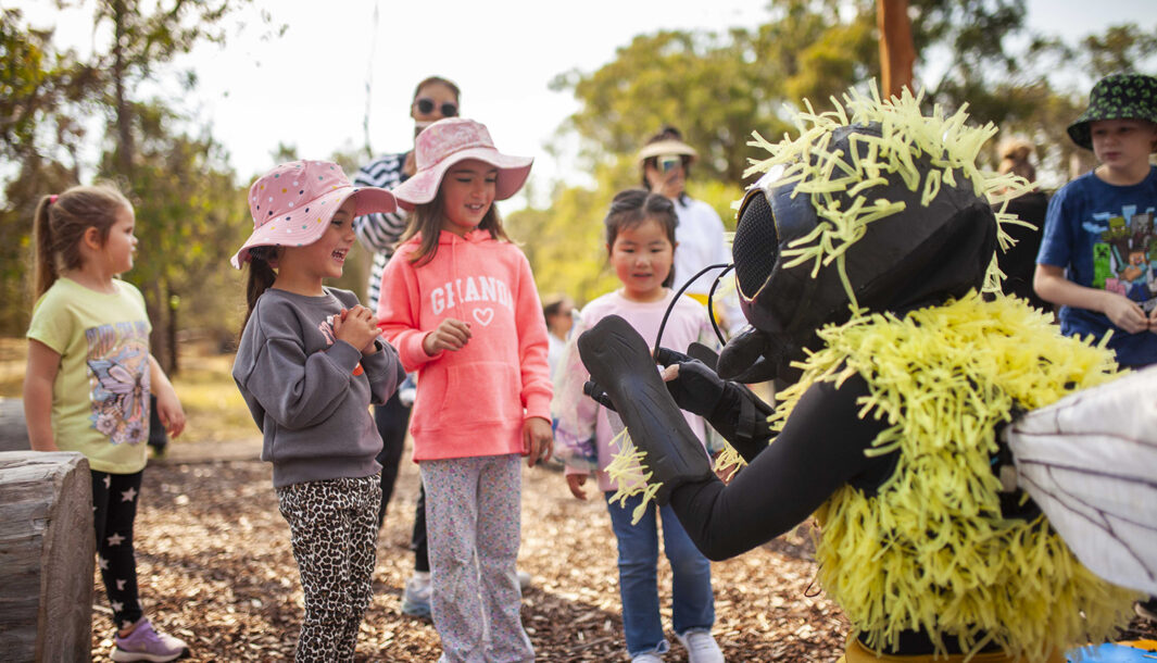
[[[392,212],[383,189],[356,189],[336,163],[278,165],[249,190],[253,234],[249,312],[233,378],[264,435],[261,459],[289,523],[305,595],[297,661],[353,661],[373,598],[382,437],[370,404],[404,377],[358,296],[324,285],[341,275],[353,221]]]

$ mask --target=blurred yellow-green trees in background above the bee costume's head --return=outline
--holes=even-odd
[[[1076,46],[1034,34],[1025,0],[909,0],[916,79],[929,104],[965,103],[978,124],[994,121],[1040,146],[1045,172],[1066,170],[1078,148],[1064,127],[1096,78],[1151,61],[1157,32],[1115,27]],[[559,75],[552,89],[581,106],[561,131],[578,135],[580,159],[597,186],[560,187],[547,209],[511,216],[525,223],[539,287],[580,301],[614,287],[606,280],[598,234],[611,196],[638,185],[633,155],[664,124],[678,126],[701,160],[688,192],[734,226],[731,202],[745,184],[752,130],[776,139],[791,130],[790,110],[878,76],[875,0],[775,0],[759,25],[725,34],[657,31],[636,36],[598,69]],[[1054,82],[1081,72],[1077,88]],[[996,146],[990,154],[996,163]]]

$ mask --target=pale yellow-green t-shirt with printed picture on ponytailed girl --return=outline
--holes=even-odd
[[[94,470],[131,474],[146,461],[152,325],[140,290],[113,283],[118,292],[105,294],[57,279],[32,308],[28,338],[60,353],[57,447],[80,451]]]

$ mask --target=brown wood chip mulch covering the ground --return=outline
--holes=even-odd
[[[137,520],[141,596],[160,628],[189,642],[191,661],[293,660],[302,594],[270,477],[270,466],[256,459],[170,461],[150,463],[145,472]],[[522,616],[538,660],[627,661],[606,507],[575,500],[558,471],[524,469],[523,481],[518,568],[533,576],[533,587]],[[378,537],[375,598],[358,661],[436,661],[441,654],[433,624],[400,612],[401,587],[413,568],[417,495],[417,469],[405,463]],[[848,623],[813,584],[811,552],[801,528],[713,565],[714,634],[728,661],[839,657]],[[668,628],[670,584],[663,560]],[[93,658],[108,661],[111,626],[100,582],[96,597]],[[1134,636],[1157,635],[1147,623],[1134,625]],[[676,644],[665,660],[687,658]]]

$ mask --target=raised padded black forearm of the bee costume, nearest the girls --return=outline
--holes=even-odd
[[[655,360],[627,321],[607,316],[578,337],[578,355],[613,404],[636,447],[651,481],[663,486],[655,501],[666,504],[671,491],[713,478],[710,459],[683,412],[666,390]]]

